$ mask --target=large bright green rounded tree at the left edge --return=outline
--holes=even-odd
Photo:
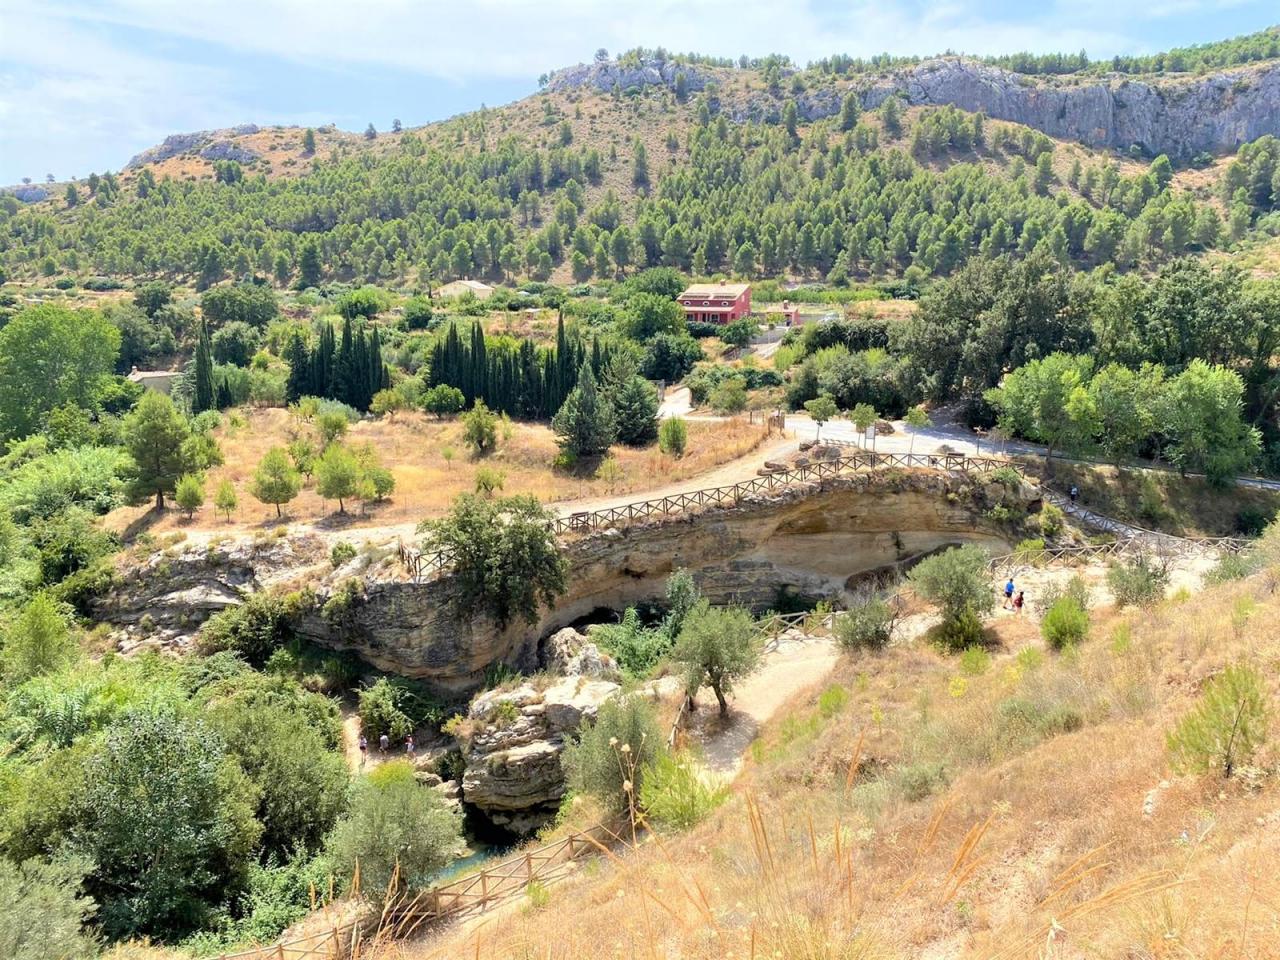
[[[55,407],[90,406],[119,349],[119,329],[97,311],[18,312],[0,329],[0,431],[26,436]]]

